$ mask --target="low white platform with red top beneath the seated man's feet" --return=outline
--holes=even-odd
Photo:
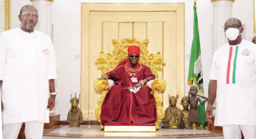
[[[156,132],[156,124],[105,124],[105,132]]]

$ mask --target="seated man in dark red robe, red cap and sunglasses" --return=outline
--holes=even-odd
[[[139,55],[138,46],[129,46],[129,62],[99,78],[114,81],[114,86],[109,90],[102,104],[100,115],[102,125],[149,124],[156,121],[154,96],[148,86],[143,86],[146,82],[155,79],[155,76],[149,67],[139,63]]]

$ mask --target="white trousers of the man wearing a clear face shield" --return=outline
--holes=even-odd
[[[26,139],[43,138],[43,122],[29,121],[25,122]],[[22,122],[3,125],[3,139],[17,139],[21,129]]]

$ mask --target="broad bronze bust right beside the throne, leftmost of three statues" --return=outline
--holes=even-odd
[[[182,121],[181,110],[176,107],[178,95],[169,98],[170,107],[166,109],[164,115],[164,125],[161,128],[178,128],[179,123]]]

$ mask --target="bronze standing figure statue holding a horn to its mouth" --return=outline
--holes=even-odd
[[[189,110],[189,127],[187,129],[192,129],[193,122],[196,123],[196,129],[201,130],[200,128],[200,117],[199,117],[199,111],[198,111],[198,101],[200,104],[205,104],[205,102],[208,100],[207,97],[197,95],[198,89],[196,86],[191,86],[188,92],[188,103],[190,106]],[[191,95],[191,97],[190,97]],[[205,100],[201,100],[199,97],[204,98]]]

